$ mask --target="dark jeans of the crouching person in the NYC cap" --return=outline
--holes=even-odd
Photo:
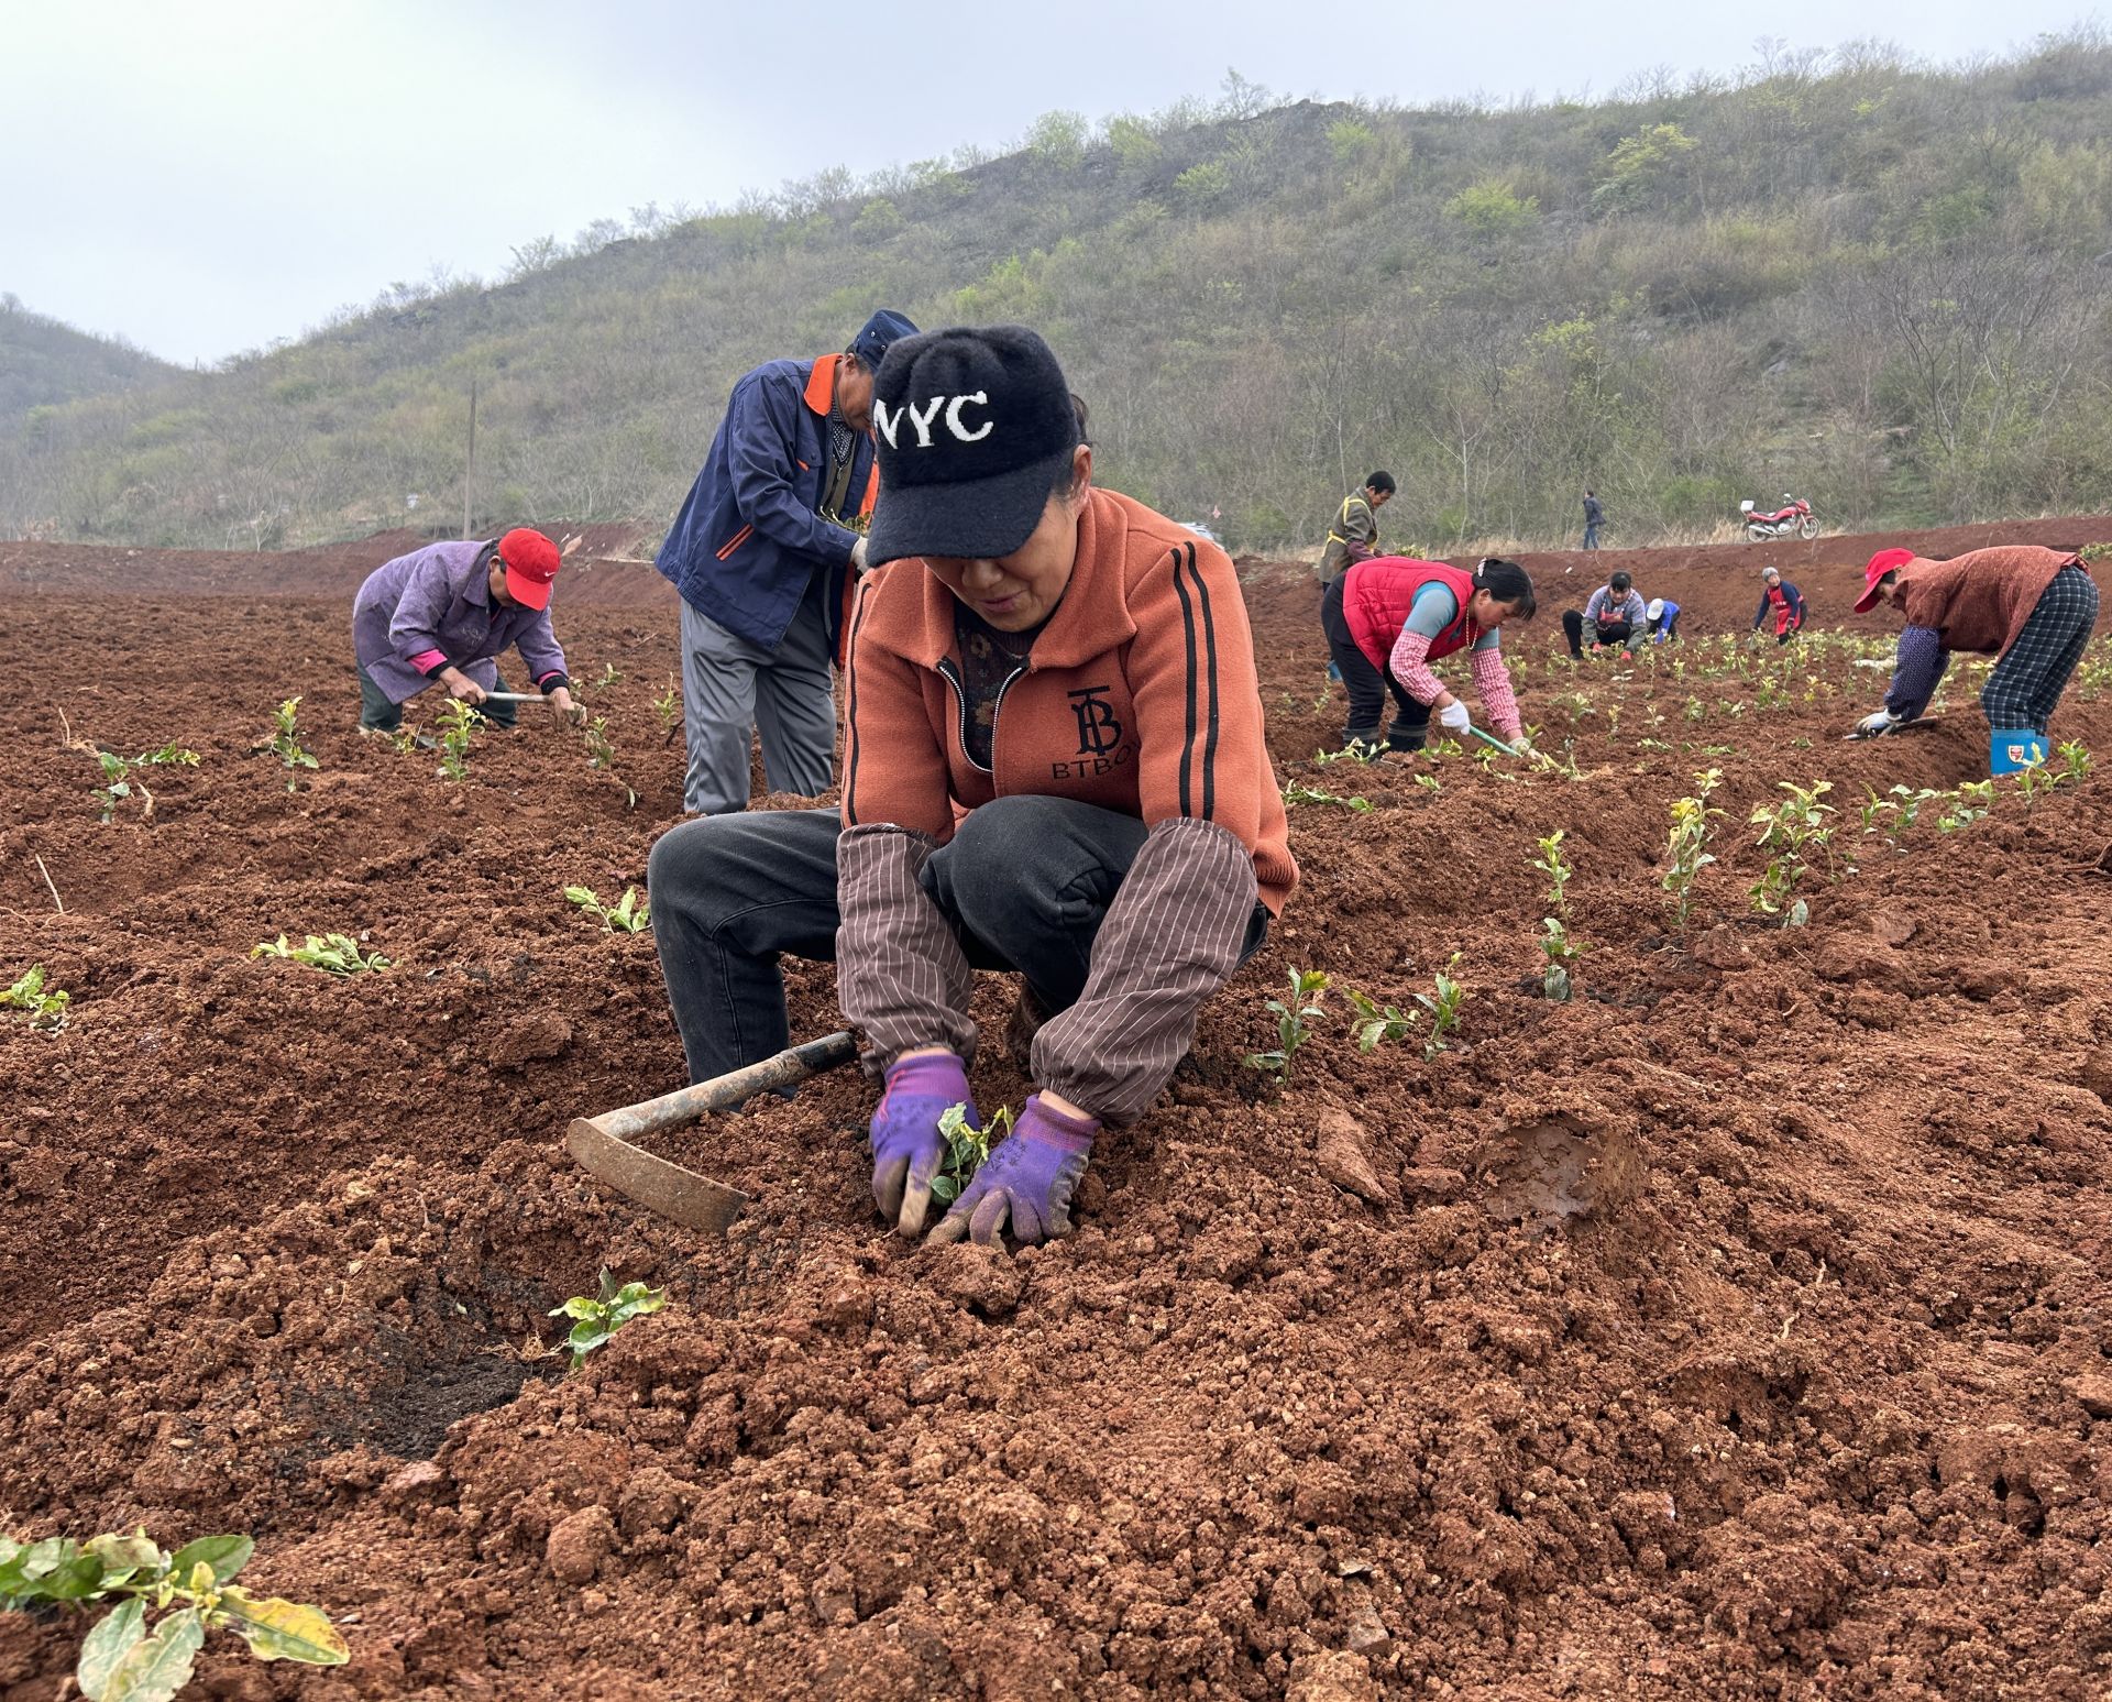
[[[788,1045],[777,957],[836,959],[841,828],[834,809],[750,811],[699,815],[655,843],[653,942],[691,1081]],[[1143,847],[1134,815],[1073,798],[997,798],[961,821],[921,885],[972,967],[1020,971],[1054,1016],[1086,990],[1092,942]],[[1257,904],[1242,963],[1267,925]]]

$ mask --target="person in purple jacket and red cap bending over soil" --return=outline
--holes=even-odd
[[[431,543],[382,562],[353,598],[359,729],[393,733],[403,705],[433,684],[511,726],[511,703],[484,701],[505,691],[498,655],[509,648],[522,653],[551,710],[585,720],[549,625],[555,579],[558,545],[526,526],[496,543]]]

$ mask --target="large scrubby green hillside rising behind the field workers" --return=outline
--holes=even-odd
[[[302,545],[674,511],[733,378],[876,304],[1041,327],[1102,475],[1233,547],[1400,479],[1428,549],[2112,507],[2112,46],[1932,70],[1875,49],[1595,103],[1035,122],[995,160],[826,173],[517,251],[300,344],[0,435],[0,534]]]

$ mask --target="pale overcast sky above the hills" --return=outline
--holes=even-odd
[[[1423,103],[1732,72],[1755,40],[1956,61],[2087,0],[0,0],[0,291],[173,361],[657,201],[1003,146],[1050,108]]]

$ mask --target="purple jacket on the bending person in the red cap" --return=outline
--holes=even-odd
[[[494,608],[490,564],[492,545],[469,538],[414,549],[367,574],[353,598],[353,655],[391,703],[416,697],[450,663],[492,691],[496,659],[511,646],[536,688],[570,684],[549,610]]]

